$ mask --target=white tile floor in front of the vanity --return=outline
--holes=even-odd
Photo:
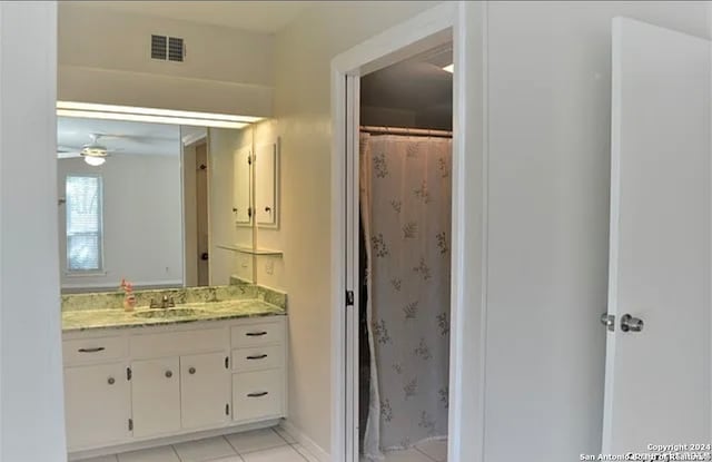
[[[279,427],[125,452],[82,462],[318,462]],[[429,462],[429,461],[428,461]]]

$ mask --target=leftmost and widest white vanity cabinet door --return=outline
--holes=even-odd
[[[126,368],[122,362],[65,367],[70,451],[119,443],[131,436],[131,392]]]

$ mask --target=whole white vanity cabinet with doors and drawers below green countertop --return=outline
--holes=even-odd
[[[70,453],[276,423],[286,407],[285,322],[268,316],[66,333]]]

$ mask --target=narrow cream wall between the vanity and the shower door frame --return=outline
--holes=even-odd
[[[322,449],[330,436],[330,60],[437,2],[319,2],[275,40],[281,137],[289,420]]]

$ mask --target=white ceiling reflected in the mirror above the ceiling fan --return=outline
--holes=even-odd
[[[91,134],[106,135],[99,144],[120,155],[180,155],[180,126],[122,120],[57,118],[57,147],[79,151],[91,142]]]

